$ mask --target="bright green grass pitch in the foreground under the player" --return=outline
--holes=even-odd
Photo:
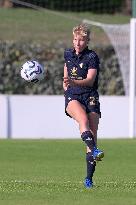
[[[136,140],[99,140],[94,188],[86,190],[81,140],[0,140],[0,205],[135,205]]]

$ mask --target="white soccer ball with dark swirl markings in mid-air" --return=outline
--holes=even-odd
[[[27,61],[21,67],[21,77],[28,82],[36,83],[44,78],[44,68],[38,61]]]

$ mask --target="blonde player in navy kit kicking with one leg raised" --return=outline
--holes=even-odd
[[[100,118],[98,94],[99,58],[88,49],[90,30],[80,24],[73,28],[73,48],[64,52],[65,112],[79,124],[81,138],[87,146],[86,188],[93,187],[96,161],[104,157],[97,148],[97,129]]]

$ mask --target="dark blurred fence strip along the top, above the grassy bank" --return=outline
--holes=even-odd
[[[101,14],[132,12],[131,0],[0,0],[2,7],[28,7],[30,4],[58,11],[91,11]]]

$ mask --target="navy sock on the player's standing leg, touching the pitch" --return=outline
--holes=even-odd
[[[92,180],[95,172],[96,162],[93,159],[91,152],[86,153],[87,178]]]

